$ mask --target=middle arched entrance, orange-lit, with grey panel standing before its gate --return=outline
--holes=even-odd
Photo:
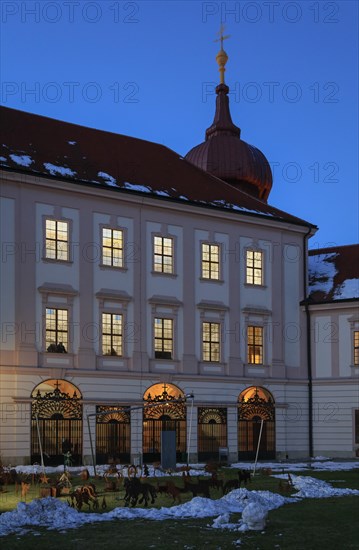
[[[186,452],[186,404],[183,392],[173,384],[154,384],[146,390],[143,410],[143,461],[161,459],[161,433],[176,432],[177,460]],[[149,406],[147,406],[149,405]]]

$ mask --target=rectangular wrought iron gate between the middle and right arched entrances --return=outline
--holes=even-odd
[[[218,460],[219,447],[227,447],[227,409],[198,408],[198,460]]]

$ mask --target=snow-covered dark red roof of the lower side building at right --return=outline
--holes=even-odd
[[[359,298],[359,245],[310,250],[308,270],[312,301]]]

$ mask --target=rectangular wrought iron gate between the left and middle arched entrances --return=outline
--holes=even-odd
[[[131,417],[116,406],[96,407],[96,462],[109,464],[130,461]]]

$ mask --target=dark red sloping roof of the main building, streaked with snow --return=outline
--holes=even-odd
[[[0,109],[0,165],[5,169],[315,227],[197,168],[163,145]]]

